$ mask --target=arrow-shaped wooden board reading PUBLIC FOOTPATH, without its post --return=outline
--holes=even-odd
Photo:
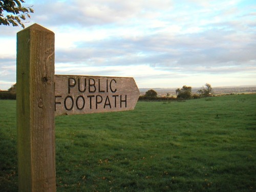
[[[132,77],[54,75],[55,116],[133,110],[140,92]]]

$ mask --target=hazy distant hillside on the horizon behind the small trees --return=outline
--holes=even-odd
[[[142,88],[140,94],[144,95],[148,90],[155,90],[159,96],[164,96],[166,93],[169,93],[171,96],[176,95],[177,88]],[[193,93],[197,93],[198,90],[202,87],[192,88]],[[236,87],[213,87],[212,88],[215,95],[221,94],[231,94],[231,93],[256,93],[256,86],[236,86]]]

